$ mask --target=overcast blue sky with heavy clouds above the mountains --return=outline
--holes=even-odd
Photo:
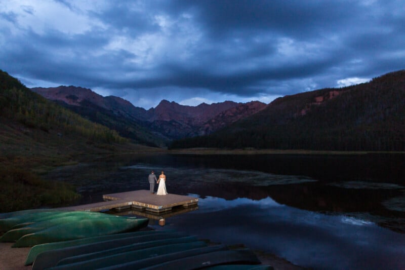
[[[0,0],[0,69],[146,109],[269,103],[404,68],[403,0]]]

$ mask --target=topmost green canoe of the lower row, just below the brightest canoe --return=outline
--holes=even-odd
[[[173,230],[165,230],[164,232],[172,233]],[[32,262],[35,260],[35,258],[38,254],[41,254],[41,253],[49,251],[49,250],[57,250],[57,249],[62,249],[62,248],[67,248],[67,247],[98,243],[98,242],[103,242],[103,241],[108,241],[108,240],[118,240],[118,239],[131,238],[131,237],[136,237],[136,236],[151,235],[151,234],[155,234],[155,233],[156,233],[156,231],[147,230],[147,231],[142,231],[142,232],[131,232],[131,233],[121,233],[121,234],[114,234],[114,235],[95,236],[95,237],[82,238],[82,239],[76,239],[76,240],[70,240],[70,241],[39,244],[39,245],[33,246],[29,250],[27,259],[25,260],[25,265],[32,264]]]

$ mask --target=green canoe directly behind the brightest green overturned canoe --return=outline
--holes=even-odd
[[[21,237],[23,237],[25,235],[36,233],[39,230],[47,229],[47,228],[50,228],[52,226],[56,226],[59,224],[79,221],[79,220],[83,220],[83,219],[91,219],[91,218],[100,218],[100,215],[89,214],[88,212],[77,212],[77,213],[72,213],[71,215],[68,215],[68,216],[56,217],[56,218],[48,219],[45,221],[34,222],[29,225],[22,226],[20,228],[9,230],[2,237],[0,237],[0,242],[16,242]],[[20,224],[26,224],[26,223],[20,223]],[[16,227],[16,226],[14,226],[14,227]]]

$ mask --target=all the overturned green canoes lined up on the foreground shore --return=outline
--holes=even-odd
[[[96,212],[0,215],[0,241],[32,246],[32,269],[273,269],[249,249],[209,245],[174,230],[142,230],[147,219]]]

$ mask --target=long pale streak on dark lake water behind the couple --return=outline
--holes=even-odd
[[[159,166],[152,164],[136,164],[122,167],[124,169],[134,169],[141,171],[155,170],[159,171]],[[255,186],[267,185],[285,185],[305,182],[314,182],[316,180],[307,176],[296,175],[278,175],[260,171],[232,170],[232,169],[208,169],[208,168],[189,168],[189,167],[165,167],[161,166],[165,174],[171,179],[185,179],[196,182],[241,182],[249,183]]]

